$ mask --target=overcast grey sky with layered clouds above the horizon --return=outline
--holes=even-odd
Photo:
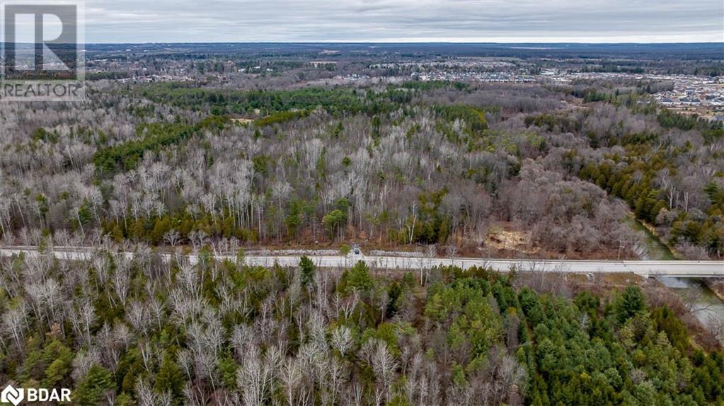
[[[86,0],[85,40],[724,42],[723,0]]]

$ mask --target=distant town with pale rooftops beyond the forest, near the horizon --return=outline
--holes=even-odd
[[[222,59],[212,56],[204,62],[179,64],[173,60],[148,64],[148,49],[119,49],[122,57],[102,54],[89,59],[88,73],[121,83],[193,82],[236,83],[263,77],[285,77],[303,72],[300,82],[308,85],[369,85],[419,81],[459,81],[466,83],[538,83],[576,86],[604,81],[614,88],[626,84],[626,91],[639,88],[660,106],[683,114],[724,122],[724,80],[719,72],[672,69],[670,65],[642,69],[628,60],[605,64],[604,59],[545,59],[514,57],[453,56],[445,59],[390,57],[390,62],[369,63],[348,58],[340,51],[322,50],[319,59],[285,60]],[[130,55],[131,57],[127,57]],[[114,75],[109,75],[114,72]],[[675,73],[668,73],[674,71]],[[682,73],[684,72],[684,73]]]

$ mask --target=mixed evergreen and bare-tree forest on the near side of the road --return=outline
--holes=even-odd
[[[50,245],[48,245],[50,248]],[[724,354],[659,294],[484,268],[396,274],[0,260],[0,378],[77,405],[721,405]],[[555,287],[555,288],[554,288]],[[578,291],[576,293],[576,291]],[[647,298],[647,296],[649,296]],[[672,305],[670,307],[669,305]]]

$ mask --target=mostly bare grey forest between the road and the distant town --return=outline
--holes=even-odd
[[[681,257],[721,258],[723,130],[581,86],[100,80],[72,109],[0,112],[1,237],[645,258],[635,216]],[[592,91],[608,96],[571,107]],[[499,229],[525,246],[490,245]]]

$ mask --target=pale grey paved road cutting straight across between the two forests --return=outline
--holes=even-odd
[[[38,255],[38,250],[28,247],[0,248],[0,256],[25,253]],[[90,258],[91,248],[55,248],[56,258],[81,260]],[[132,253],[125,255],[131,256]],[[170,255],[164,254],[165,258]],[[233,256],[218,255],[216,258],[233,259]],[[439,265],[455,265],[463,269],[473,266],[487,266],[496,271],[509,271],[515,266],[520,271],[555,271],[573,274],[594,273],[633,273],[641,276],[685,276],[685,277],[724,277],[724,261],[544,261],[484,258],[405,258],[396,256],[373,255],[310,255],[309,258],[321,268],[339,268],[353,266],[357,261],[365,261],[369,266],[382,269],[425,269]],[[198,258],[189,256],[190,261]],[[245,257],[249,265],[271,266],[275,262],[281,266],[297,266],[299,255],[250,255]]]

